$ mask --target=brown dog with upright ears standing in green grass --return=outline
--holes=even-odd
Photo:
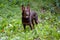
[[[34,22],[38,24],[38,15],[36,12],[30,10],[30,6],[24,7],[22,5],[22,24],[24,29],[26,29],[26,25],[29,25],[31,30],[34,28]]]

